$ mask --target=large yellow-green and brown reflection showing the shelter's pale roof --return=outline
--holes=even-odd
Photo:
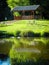
[[[10,51],[12,65],[49,64],[49,38],[15,38],[13,41]]]

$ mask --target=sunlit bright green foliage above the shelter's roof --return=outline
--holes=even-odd
[[[9,7],[14,8],[15,6],[29,5],[29,0],[7,0]]]

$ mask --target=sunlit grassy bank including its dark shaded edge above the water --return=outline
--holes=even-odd
[[[49,37],[49,20],[15,20],[0,24],[0,37]]]

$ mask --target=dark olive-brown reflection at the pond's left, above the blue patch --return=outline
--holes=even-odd
[[[9,52],[13,46],[13,42],[8,39],[0,39],[0,58],[3,55],[9,56]],[[3,54],[3,55],[2,55]]]

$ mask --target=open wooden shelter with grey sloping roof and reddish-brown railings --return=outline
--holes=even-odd
[[[21,16],[14,16],[16,20],[42,18],[40,5],[16,6],[12,11],[21,13]]]

